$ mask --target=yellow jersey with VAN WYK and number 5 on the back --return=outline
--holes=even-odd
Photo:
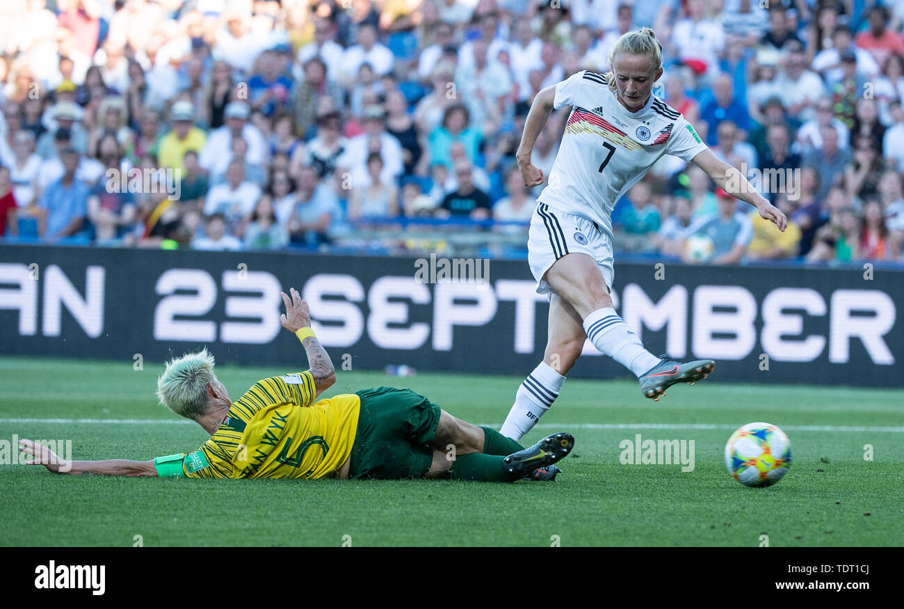
[[[232,403],[220,429],[183,459],[189,478],[323,478],[352,453],[361,399],[320,400],[314,376],[258,381]]]

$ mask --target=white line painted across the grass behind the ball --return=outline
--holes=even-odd
[[[191,425],[192,421],[179,419],[0,419],[0,423],[56,423],[88,425]],[[498,423],[481,423],[481,427],[500,427]],[[572,429],[673,429],[673,430],[728,430],[736,425],[712,423],[539,423],[537,429],[570,431]],[[782,425],[790,432],[886,432],[904,433],[904,427],[854,426],[854,425]]]

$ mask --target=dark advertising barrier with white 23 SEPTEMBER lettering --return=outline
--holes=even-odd
[[[221,364],[306,365],[280,290],[310,304],[337,370],[525,375],[546,343],[525,262],[0,246],[0,353],[132,366],[207,345]],[[619,312],[654,353],[721,380],[901,386],[904,271],[617,264]],[[628,377],[589,343],[570,376]],[[513,385],[513,391],[514,391]]]

